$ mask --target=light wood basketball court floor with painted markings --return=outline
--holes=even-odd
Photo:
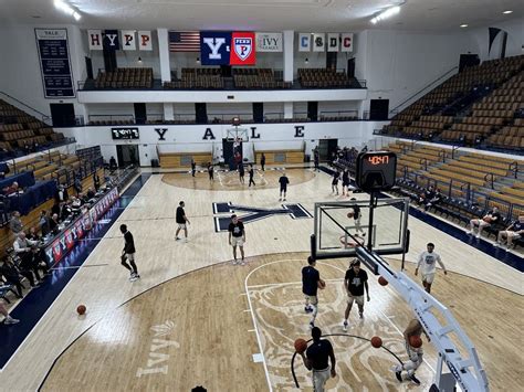
[[[347,198],[329,194],[326,173],[287,171],[301,170],[310,180],[292,184],[286,203],[300,203],[312,214],[318,199],[328,200],[327,204],[329,200],[347,203]],[[186,186],[180,187],[167,183],[165,177],[169,176],[150,176],[112,222],[83,267],[10,360],[9,372],[0,374],[2,383],[45,391],[182,391],[196,384],[231,391],[296,388],[291,361],[294,339],[310,338],[301,268],[310,254],[314,220],[268,214],[250,222],[245,225],[248,265],[233,266],[227,233],[214,230],[212,203],[277,210],[284,203],[277,201],[276,190],[191,190],[187,187],[192,181],[190,173],[176,174],[186,176]],[[367,194],[355,197],[366,203]],[[186,201],[191,221],[188,243],[174,240],[171,205],[179,200]],[[404,211],[391,206],[375,212],[377,243],[386,243],[380,239],[387,236],[380,233],[388,227],[398,239],[398,225],[394,230],[391,222],[398,223]],[[346,212],[338,214],[344,220]],[[129,226],[138,252],[143,278],[133,284],[118,262],[120,223]],[[493,322],[522,314],[521,274],[413,216],[409,216],[408,227],[407,274],[413,277],[418,254],[428,241],[434,242],[450,274],[438,274],[433,296],[450,308],[474,342],[492,390],[517,390],[524,382],[522,358],[514,346],[520,340],[518,324],[494,328]],[[337,252],[347,251],[339,231],[332,229],[333,235],[326,234],[327,230],[324,234],[333,236]],[[400,268],[400,255],[385,257],[392,268]],[[322,259],[317,265],[327,287],[319,293],[316,324],[324,333],[336,335],[329,340],[335,347],[338,375],[328,381],[328,389],[420,390],[413,383],[398,383],[390,371],[398,360],[406,360],[401,331],[413,314],[391,287],[378,285],[369,272],[371,300],[365,305],[365,318],[359,320],[354,309],[349,329],[343,331],[343,278],[349,259]],[[415,280],[419,283],[419,278]],[[75,314],[77,304],[86,305],[85,316]],[[373,336],[382,338],[384,348],[370,346],[367,339]],[[433,381],[437,351],[426,340],[423,348],[425,363],[417,375],[427,389]],[[30,377],[20,378],[30,363]],[[301,358],[295,359],[294,370],[300,388],[312,390]]]

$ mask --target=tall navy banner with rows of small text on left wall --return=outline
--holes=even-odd
[[[45,98],[74,98],[66,29],[34,29]]]

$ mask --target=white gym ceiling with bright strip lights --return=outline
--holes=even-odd
[[[369,19],[401,0],[70,0],[82,28],[342,32],[365,29],[413,31],[485,27],[524,15],[524,0],[407,0],[399,14],[373,25]],[[513,10],[512,14],[502,14]],[[40,17],[40,18],[34,18]],[[53,0],[0,0],[0,22],[72,24]]]

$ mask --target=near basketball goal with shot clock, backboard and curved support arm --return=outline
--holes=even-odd
[[[377,192],[380,190],[390,189],[395,184],[396,174],[396,155],[389,151],[374,151],[360,153],[357,158],[357,186],[366,192]],[[395,205],[395,199],[380,199],[369,202],[369,227],[374,226],[373,211],[378,203],[384,205]],[[407,230],[407,220],[409,212],[409,203],[404,200],[405,208],[402,209],[402,218],[399,220],[401,227],[399,231],[399,243],[394,244],[389,248],[375,246],[373,250],[371,241],[368,241],[368,246],[355,241],[353,250],[334,250],[323,247],[322,242],[322,216],[326,215],[329,223],[335,223],[342,231],[346,232],[348,236],[355,237],[347,232],[347,230],[336,222],[336,219],[328,213],[331,210],[338,208],[350,208],[352,202],[328,202],[315,204],[314,216],[314,234],[311,236],[312,257],[315,259],[322,258],[339,258],[347,256],[356,256],[366,267],[375,275],[382,276],[389,285],[409,304],[415,315],[423,326],[423,329],[431,338],[431,343],[439,352],[434,383],[431,391],[452,392],[455,391],[457,384],[460,385],[463,392],[488,392],[489,382],[485,370],[479,360],[475,347],[462,330],[459,322],[455,320],[451,311],[428,294],[421,286],[416,284],[402,272],[394,271],[389,264],[380,256],[385,254],[405,254],[409,245],[409,231]],[[353,202],[364,206],[364,202]],[[333,222],[331,222],[333,221]],[[391,231],[389,221],[387,222],[387,230]],[[328,229],[326,229],[328,230]],[[329,233],[331,235],[331,233]],[[369,236],[369,239],[371,235]],[[404,257],[404,256],[402,256]],[[404,259],[402,259],[404,268]],[[439,316],[439,321],[436,315]],[[453,335],[460,341],[460,345],[465,349],[461,352],[453,343],[450,336]],[[449,372],[446,372],[444,364]],[[295,380],[296,381],[296,380]]]

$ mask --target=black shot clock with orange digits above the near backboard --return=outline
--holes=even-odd
[[[388,190],[397,178],[397,155],[390,151],[360,152],[355,181],[365,192]]]

